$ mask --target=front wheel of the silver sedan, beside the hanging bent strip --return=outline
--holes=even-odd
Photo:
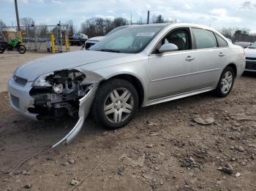
[[[92,106],[94,119],[104,128],[124,127],[138,109],[138,93],[124,79],[110,79],[99,86]]]

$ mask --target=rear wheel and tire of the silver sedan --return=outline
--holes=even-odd
[[[220,98],[226,97],[228,94],[230,94],[233,88],[234,82],[235,82],[235,72],[230,66],[227,66],[222,71],[222,75],[220,76],[219,83],[215,89],[215,95],[217,95]]]

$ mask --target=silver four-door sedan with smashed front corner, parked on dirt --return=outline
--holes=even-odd
[[[109,129],[150,106],[214,90],[232,90],[245,67],[244,50],[211,28],[193,24],[130,26],[86,51],[39,58],[9,80],[10,104],[39,120],[71,115],[82,128],[89,111]]]

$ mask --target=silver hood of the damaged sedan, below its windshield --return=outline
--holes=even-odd
[[[60,53],[30,61],[29,63],[20,66],[20,68],[15,71],[15,75],[28,79],[30,82],[34,81],[40,75],[46,74],[50,71],[73,69],[77,66],[90,63],[93,64],[99,61],[107,61],[114,58],[121,58],[127,55],[129,54],[89,50]]]

